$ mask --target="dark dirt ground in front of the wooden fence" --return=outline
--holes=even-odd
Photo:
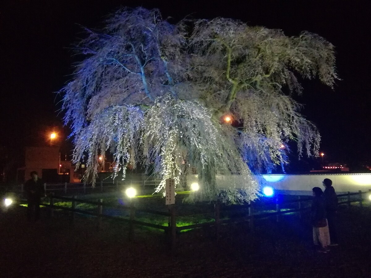
[[[55,212],[52,222],[25,221],[25,208],[0,217],[2,277],[371,277],[371,209],[339,209],[340,245],[328,254],[314,251],[311,226],[295,215],[214,230],[181,233],[174,251],[163,232]]]

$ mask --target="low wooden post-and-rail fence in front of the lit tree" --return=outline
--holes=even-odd
[[[369,192],[357,192],[357,193],[351,193],[348,192],[347,194],[342,194],[338,195],[338,198],[343,198],[347,197],[347,201],[342,201],[339,202],[339,205],[342,204],[347,204],[348,207],[351,206],[351,203],[358,202],[359,205],[362,207],[362,194],[365,193],[371,193],[371,190]],[[351,196],[357,196],[356,199],[351,199]],[[64,201],[70,201],[72,202],[72,205],[70,208],[65,207],[65,206],[57,206],[55,205],[55,200],[64,200]],[[135,225],[140,225],[140,226],[147,226],[151,228],[156,228],[163,230],[167,232],[169,235],[169,239],[171,239],[171,244],[174,246],[175,245],[175,240],[176,240],[176,234],[180,231],[188,230],[188,229],[195,229],[195,228],[201,228],[201,227],[206,227],[206,226],[215,226],[215,231],[216,231],[216,238],[219,238],[219,231],[220,231],[220,226],[224,224],[229,224],[229,223],[237,223],[237,222],[249,222],[249,227],[250,229],[254,229],[254,221],[255,219],[260,219],[260,218],[267,218],[271,216],[276,216],[276,221],[280,221],[280,216],[284,214],[289,214],[289,213],[299,213],[299,217],[302,217],[303,212],[308,211],[310,207],[305,207],[303,206],[303,203],[311,201],[312,198],[300,198],[298,196],[298,199],[293,199],[293,200],[287,200],[280,202],[280,200],[277,198],[276,199],[276,211],[275,212],[269,212],[269,213],[263,213],[259,214],[257,213],[258,211],[255,210],[254,208],[256,207],[255,203],[252,201],[249,201],[248,204],[238,206],[239,210],[246,209],[248,208],[248,214],[243,215],[241,217],[237,218],[230,218],[230,219],[221,219],[220,218],[220,212],[221,211],[227,211],[232,209],[230,206],[221,206],[220,203],[216,202],[214,204],[214,221],[213,222],[206,222],[206,223],[198,223],[198,224],[193,224],[193,225],[187,225],[187,226],[177,226],[177,221],[176,221],[176,212],[175,212],[175,206],[170,205],[168,206],[168,212],[161,212],[161,211],[155,211],[151,209],[139,209],[135,208],[134,204],[131,202],[129,206],[126,205],[112,205],[112,204],[105,204],[102,199],[100,199],[98,202],[92,202],[92,201],[86,201],[83,199],[77,199],[76,196],[73,196],[72,198],[67,198],[63,196],[55,196],[54,193],[50,194],[50,203],[42,203],[43,206],[49,207],[49,216],[50,219],[53,218],[53,212],[54,209],[62,209],[65,211],[70,211],[71,213],[71,223],[73,224],[76,219],[76,213],[79,214],[86,214],[86,215],[91,215],[91,216],[96,216],[97,218],[97,228],[99,229],[102,225],[102,218],[107,218],[107,219],[114,219],[115,221],[121,221],[121,222],[126,222],[129,224],[129,232],[128,236],[129,239],[132,239],[133,236],[133,230]],[[90,205],[95,205],[96,206],[96,212],[89,212],[89,211],[84,211],[81,209],[76,208],[76,202],[79,203],[86,203]],[[295,209],[289,209],[289,210],[281,210],[283,204],[288,204],[288,203],[298,203],[298,207]],[[115,209],[120,209],[120,210],[128,210],[129,211],[129,219],[127,218],[121,218],[117,216],[111,216],[111,215],[106,215],[103,214],[103,207],[106,206],[108,208],[115,208]],[[237,206],[236,206],[237,207]],[[234,207],[234,209],[236,208]],[[157,225],[153,223],[148,223],[148,222],[142,222],[135,220],[135,212],[145,212],[145,213],[150,213],[150,214],[155,214],[155,215],[162,215],[162,216],[167,216],[169,221],[168,221],[168,226],[162,226],[162,225]],[[187,216],[187,215],[183,215]]]

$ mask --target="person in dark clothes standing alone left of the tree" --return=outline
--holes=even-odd
[[[31,172],[31,179],[24,185],[27,197],[27,220],[31,221],[32,212],[35,210],[35,221],[40,219],[40,199],[45,196],[45,190],[41,179],[37,177],[37,172]]]

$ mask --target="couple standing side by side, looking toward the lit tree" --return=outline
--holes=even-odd
[[[327,253],[328,246],[338,245],[336,235],[336,209],[338,198],[331,179],[324,179],[325,192],[314,187],[312,203],[313,242],[320,248],[318,252]]]

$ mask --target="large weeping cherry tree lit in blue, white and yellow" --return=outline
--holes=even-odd
[[[334,84],[333,46],[322,37],[223,18],[173,25],[143,8],[105,23],[78,45],[86,58],[61,90],[73,160],[87,161],[87,180],[95,182],[98,156],[109,150],[115,177],[125,178],[127,163],[142,164],[163,192],[165,179],[179,186],[196,170],[191,201],[239,203],[258,191],[250,169],[283,165],[289,140],[299,155],[318,155],[318,131],[290,95],[302,89],[295,74]]]

